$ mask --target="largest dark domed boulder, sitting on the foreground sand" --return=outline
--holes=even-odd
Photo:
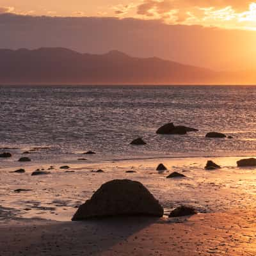
[[[106,216],[163,216],[163,207],[143,184],[111,180],[77,209],[72,221]]]

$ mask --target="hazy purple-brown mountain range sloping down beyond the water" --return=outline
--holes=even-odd
[[[64,48],[0,49],[0,84],[242,84],[255,78],[253,72],[214,72],[119,51],[100,55]]]

